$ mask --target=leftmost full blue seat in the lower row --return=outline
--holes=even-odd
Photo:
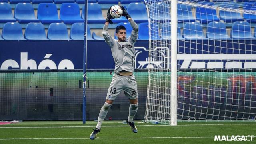
[[[21,25],[16,22],[7,22],[4,24],[2,38],[4,40],[26,40],[23,37]]]

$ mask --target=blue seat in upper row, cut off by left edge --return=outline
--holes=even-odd
[[[0,3],[0,23],[16,22],[13,18],[12,8],[8,3]]]

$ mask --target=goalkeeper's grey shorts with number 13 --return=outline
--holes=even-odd
[[[118,74],[114,74],[108,88],[106,99],[115,100],[122,90],[124,90],[125,96],[129,99],[138,98],[137,82],[133,74],[131,76],[120,76]]]

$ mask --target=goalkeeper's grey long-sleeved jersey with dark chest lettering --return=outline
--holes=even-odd
[[[130,20],[133,21],[133,20]],[[133,21],[134,22],[134,21]],[[106,25],[103,29],[103,36],[106,43],[110,46],[112,56],[115,61],[115,73],[119,73],[123,70],[127,72],[133,72],[135,65],[135,49],[134,44],[138,38],[138,26],[134,26],[135,22],[131,26],[133,27],[131,36],[126,39],[125,42],[118,42],[108,34],[108,28]]]

